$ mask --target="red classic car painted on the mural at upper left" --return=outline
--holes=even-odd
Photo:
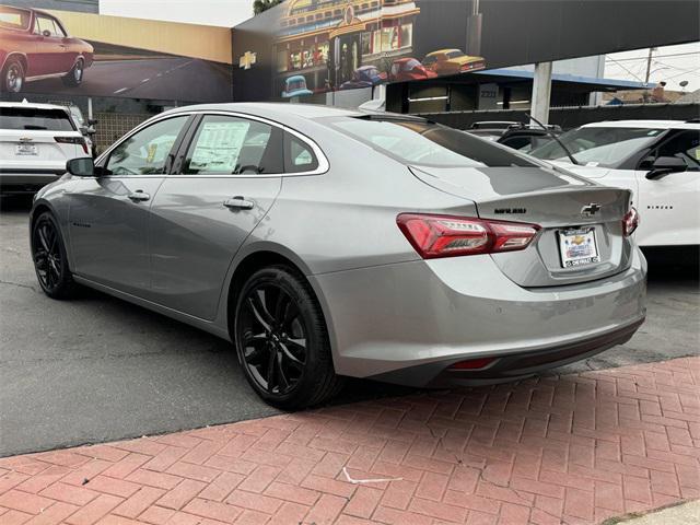
[[[0,5],[2,90],[22,91],[25,82],[61,77],[77,86],[92,66],[93,47],[68,34],[54,15],[37,9]]]

